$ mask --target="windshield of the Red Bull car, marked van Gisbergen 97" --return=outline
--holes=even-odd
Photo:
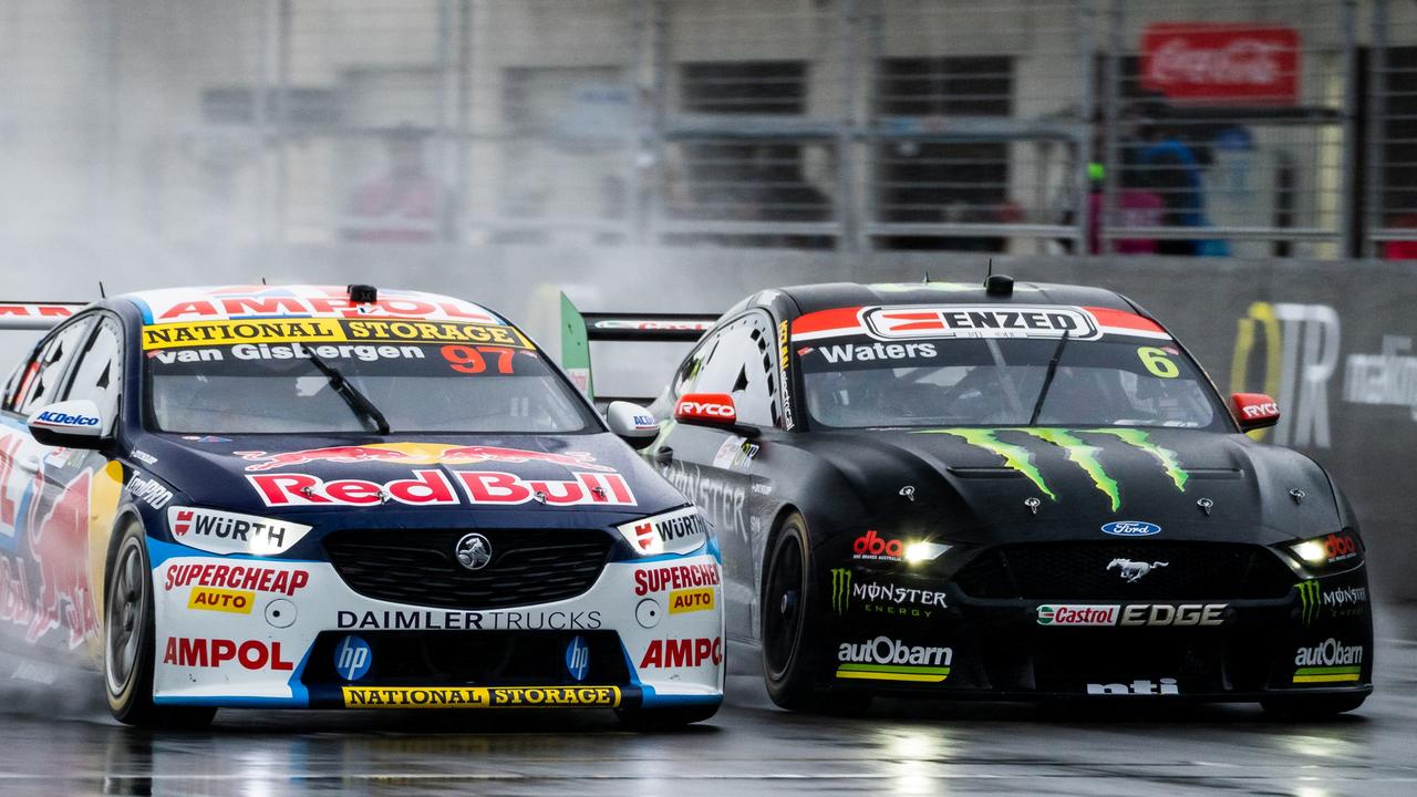
[[[145,328],[145,345],[153,329]],[[478,329],[499,330],[490,338],[497,345],[446,343],[446,335],[319,345],[279,335],[222,346],[159,340],[162,347],[145,352],[149,425],[193,434],[363,433],[383,416],[394,433],[595,428],[574,389],[520,333]],[[487,338],[469,335],[479,336]]]

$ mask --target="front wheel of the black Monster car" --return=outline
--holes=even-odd
[[[762,676],[768,696],[791,710],[852,715],[870,706],[864,695],[816,693],[820,647],[812,613],[816,594],[812,583],[812,546],[806,520],[794,512],[768,545],[768,567],[762,576]]]

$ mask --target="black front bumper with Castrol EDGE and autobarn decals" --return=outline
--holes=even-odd
[[[826,692],[1253,702],[1372,691],[1362,567],[1250,600],[975,598],[947,579],[866,567],[837,569],[825,587]]]

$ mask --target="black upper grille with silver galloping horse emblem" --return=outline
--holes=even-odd
[[[1117,559],[1165,562],[1127,581]],[[965,564],[955,583],[979,598],[1241,600],[1280,598],[1295,576],[1255,545],[1204,542],[1070,542],[1005,545]]]

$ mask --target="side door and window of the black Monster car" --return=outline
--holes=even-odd
[[[774,369],[772,323],[762,311],[750,311],[718,326],[684,360],[670,387],[670,398],[686,393],[727,393],[738,423],[760,430],[758,437],[730,430],[673,424],[656,444],[665,472],[713,523],[724,563],[724,613],[730,635],[751,637],[757,600],[761,519],[751,512],[752,467],[761,452],[761,431],[779,423]],[[656,410],[669,414],[669,408]],[[667,455],[665,452],[667,451]],[[656,457],[656,451],[650,451]]]

